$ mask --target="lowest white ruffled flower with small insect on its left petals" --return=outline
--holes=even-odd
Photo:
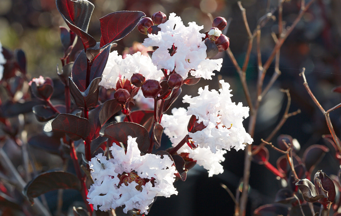
[[[148,214],[154,197],[178,193],[173,186],[176,169],[167,155],[163,159],[153,154],[140,156],[136,138],[131,136],[128,136],[127,153],[115,144],[109,149],[112,159],[98,154],[89,161],[94,184],[87,200],[95,210],[107,211],[125,205],[124,213],[137,208],[141,214]]]

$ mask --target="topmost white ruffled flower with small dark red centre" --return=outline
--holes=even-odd
[[[214,70],[220,70],[223,59],[206,59],[206,45],[200,33],[203,26],[195,22],[184,26],[181,18],[171,13],[168,20],[158,25],[158,34],[148,34],[145,46],[158,46],[152,54],[152,61],[158,69],[167,69],[187,78],[188,72],[195,77],[211,79]],[[171,56],[170,53],[173,55]]]

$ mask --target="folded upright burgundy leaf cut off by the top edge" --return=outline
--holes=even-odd
[[[85,49],[95,46],[95,39],[87,33],[94,5],[86,0],[57,0],[56,4],[65,23],[78,35]]]

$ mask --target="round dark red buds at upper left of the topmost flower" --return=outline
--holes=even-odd
[[[159,31],[158,25],[167,21],[166,14],[161,11],[154,13],[151,18],[143,17],[137,24],[137,29],[143,34],[156,34]]]

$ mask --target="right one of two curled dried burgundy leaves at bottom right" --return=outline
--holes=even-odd
[[[317,194],[325,195],[325,198],[318,202],[323,205],[327,205],[330,202],[334,202],[336,191],[333,181],[322,170],[317,171],[314,176],[315,189]]]

